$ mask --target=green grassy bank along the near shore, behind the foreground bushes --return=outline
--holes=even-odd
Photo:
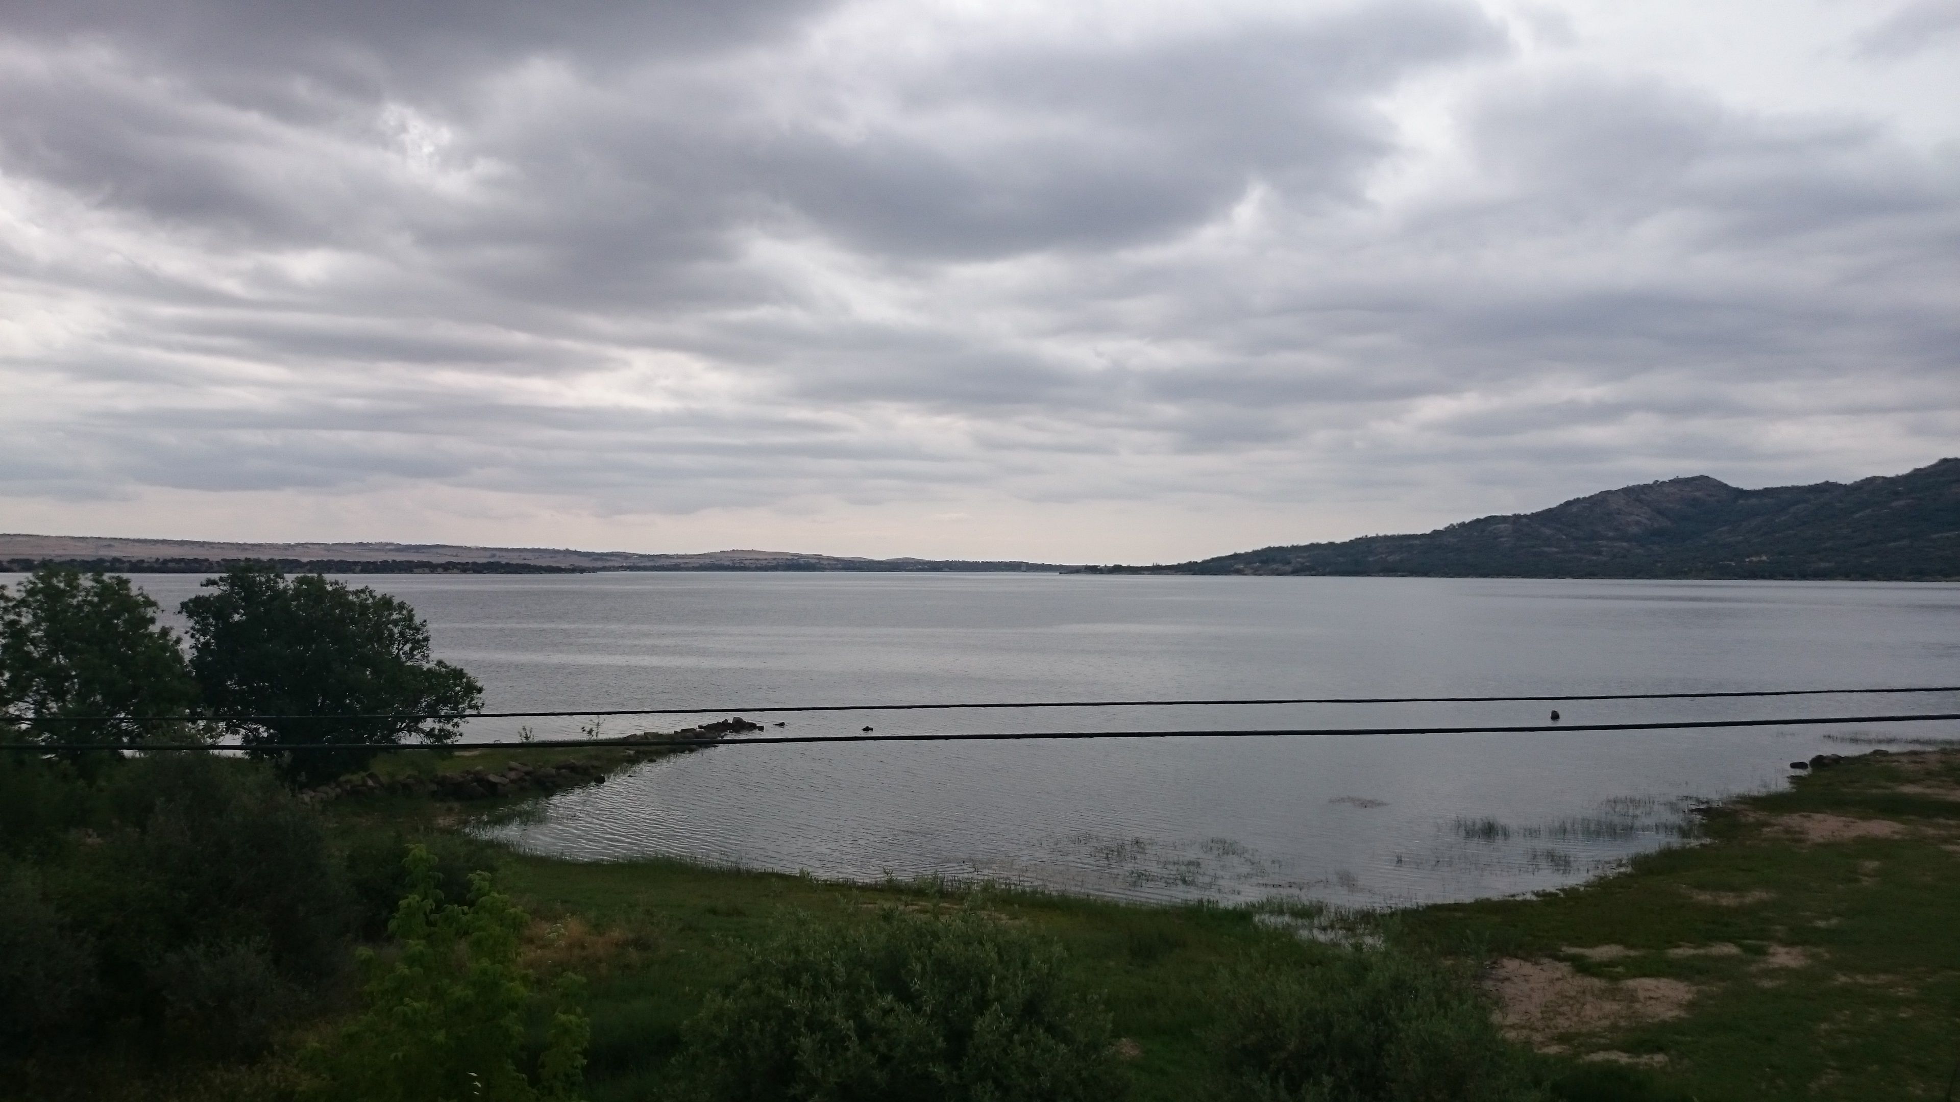
[[[347,800],[335,814],[427,829],[463,810]],[[1713,810],[1699,833],[1566,892],[1360,924],[1474,961],[1546,1067],[1633,1069],[1599,1075],[1646,1080],[1635,1096],[1940,1098],[1960,1059],[1960,753],[1850,759]],[[594,1100],[647,1096],[704,994],[790,926],[966,902],[1054,937],[1105,992],[1137,1098],[1217,1092],[1217,984],[1235,963],[1276,943],[1329,951],[1288,933],[1309,910],[968,898],[672,861],[506,855],[498,875],[533,914],[533,959],[592,980]]]

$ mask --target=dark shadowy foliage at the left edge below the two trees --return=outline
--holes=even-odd
[[[35,776],[37,775],[37,776]],[[0,867],[0,1057],[243,1057],[347,967],[353,908],[314,812],[257,763],[27,759]]]

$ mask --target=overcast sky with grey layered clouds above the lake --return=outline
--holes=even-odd
[[[0,0],[0,529],[1172,561],[1960,453],[1960,0]]]

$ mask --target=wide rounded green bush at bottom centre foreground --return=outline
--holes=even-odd
[[[1109,1020],[1058,945],[972,912],[886,912],[751,953],[688,1026],[696,1098],[1121,1098]]]

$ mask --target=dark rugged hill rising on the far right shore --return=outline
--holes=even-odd
[[[1739,490],[1707,476],[1486,516],[1425,535],[1366,535],[1219,555],[1162,575],[1960,580],[1960,459],[1897,476]]]

